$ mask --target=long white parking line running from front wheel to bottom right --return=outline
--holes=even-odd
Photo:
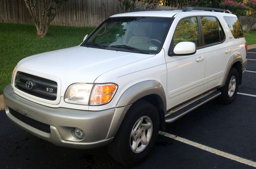
[[[245,158],[241,158],[241,157],[229,154],[229,153],[225,153],[223,151],[213,149],[213,148],[204,146],[203,144],[200,144],[200,143],[197,143],[197,142],[194,142],[194,141],[190,141],[188,139],[185,139],[185,138],[173,135],[173,134],[169,134],[169,133],[166,133],[166,132],[159,131],[159,134],[161,134],[163,136],[166,136],[166,137],[169,137],[169,138],[172,138],[172,139],[175,139],[177,141],[183,142],[183,143],[188,144],[190,146],[194,146],[196,148],[205,150],[207,152],[210,152],[210,153],[213,153],[213,154],[216,154],[216,155],[219,155],[219,156],[222,156],[222,157],[225,157],[225,158],[237,161],[237,162],[241,162],[241,163],[246,164],[246,165],[256,167],[256,162],[254,162],[254,161],[247,160]]]

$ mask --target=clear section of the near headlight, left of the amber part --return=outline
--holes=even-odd
[[[93,84],[75,83],[68,87],[64,100],[67,103],[88,105]]]

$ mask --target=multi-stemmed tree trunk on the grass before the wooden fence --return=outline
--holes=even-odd
[[[37,35],[45,37],[51,21],[66,0],[24,0],[36,27]]]

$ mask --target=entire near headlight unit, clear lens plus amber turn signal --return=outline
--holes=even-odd
[[[95,85],[75,83],[68,87],[64,100],[73,104],[103,105],[112,100],[116,90],[117,85],[112,83]]]

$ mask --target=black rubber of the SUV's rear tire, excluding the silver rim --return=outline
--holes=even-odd
[[[234,90],[234,93],[232,96],[228,94],[229,91],[229,83],[232,77],[236,78],[236,89]],[[225,85],[219,89],[221,91],[221,95],[218,98],[218,102],[223,103],[223,104],[230,104],[233,102],[234,98],[236,98],[237,91],[238,91],[238,85],[239,85],[239,75],[238,75],[238,70],[236,68],[231,68],[229,71],[227,80]]]

